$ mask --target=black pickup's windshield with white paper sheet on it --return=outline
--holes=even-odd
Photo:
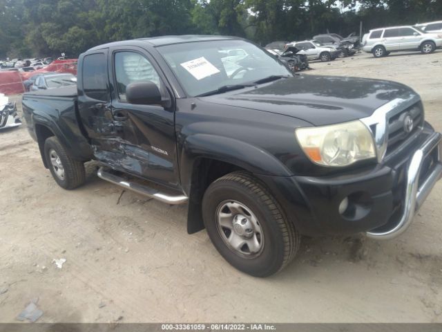
[[[157,50],[192,97],[222,93],[225,86],[248,86],[269,76],[293,75],[265,50],[243,40],[190,42]]]

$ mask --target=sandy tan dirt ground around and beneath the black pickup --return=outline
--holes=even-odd
[[[442,131],[442,50],[312,67],[408,84]],[[288,268],[257,279],[205,231],[186,234],[186,205],[122,194],[88,169],[62,190],[24,125],[0,133],[0,322],[32,299],[38,322],[442,322],[442,183],[401,237],[303,239]]]

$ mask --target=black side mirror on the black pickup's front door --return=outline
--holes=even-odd
[[[126,86],[126,100],[136,105],[162,104],[157,84],[151,81],[131,83]]]

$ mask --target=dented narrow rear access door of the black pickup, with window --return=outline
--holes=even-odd
[[[108,50],[81,55],[78,66],[78,111],[97,160],[115,160],[118,140],[111,113]]]

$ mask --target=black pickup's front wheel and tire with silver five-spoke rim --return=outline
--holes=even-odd
[[[204,193],[202,216],[220,255],[254,277],[268,277],[285,268],[300,245],[294,223],[265,186],[246,172],[211,183]]]

